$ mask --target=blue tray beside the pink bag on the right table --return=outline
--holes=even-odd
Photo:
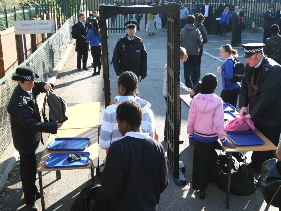
[[[238,146],[246,145],[261,145],[264,144],[264,140],[261,139],[252,130],[246,131],[227,131],[226,135]]]

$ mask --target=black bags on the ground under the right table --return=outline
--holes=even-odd
[[[216,149],[217,153],[217,186],[227,191],[229,156],[224,151]],[[239,152],[232,153],[232,169],[230,193],[234,195],[249,195],[256,191],[255,171],[246,163],[246,156]]]

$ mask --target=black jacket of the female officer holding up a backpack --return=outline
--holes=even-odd
[[[41,132],[55,133],[56,122],[41,122],[40,110],[36,96],[46,92],[45,82],[34,82],[32,95],[16,86],[8,103],[8,113],[11,115],[11,130],[13,144],[18,152],[30,154],[35,152],[42,140]]]

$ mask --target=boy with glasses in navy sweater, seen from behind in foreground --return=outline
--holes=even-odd
[[[116,122],[124,138],[109,147],[102,185],[91,189],[88,203],[109,201],[110,211],[157,210],[168,185],[165,150],[148,133],[142,133],[143,109],[125,100],[116,108]]]

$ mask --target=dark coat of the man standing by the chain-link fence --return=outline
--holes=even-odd
[[[86,33],[88,25],[85,23],[85,28],[83,24],[78,21],[75,25],[75,32],[77,35],[75,51],[79,53],[88,53],[88,43],[86,42]]]

